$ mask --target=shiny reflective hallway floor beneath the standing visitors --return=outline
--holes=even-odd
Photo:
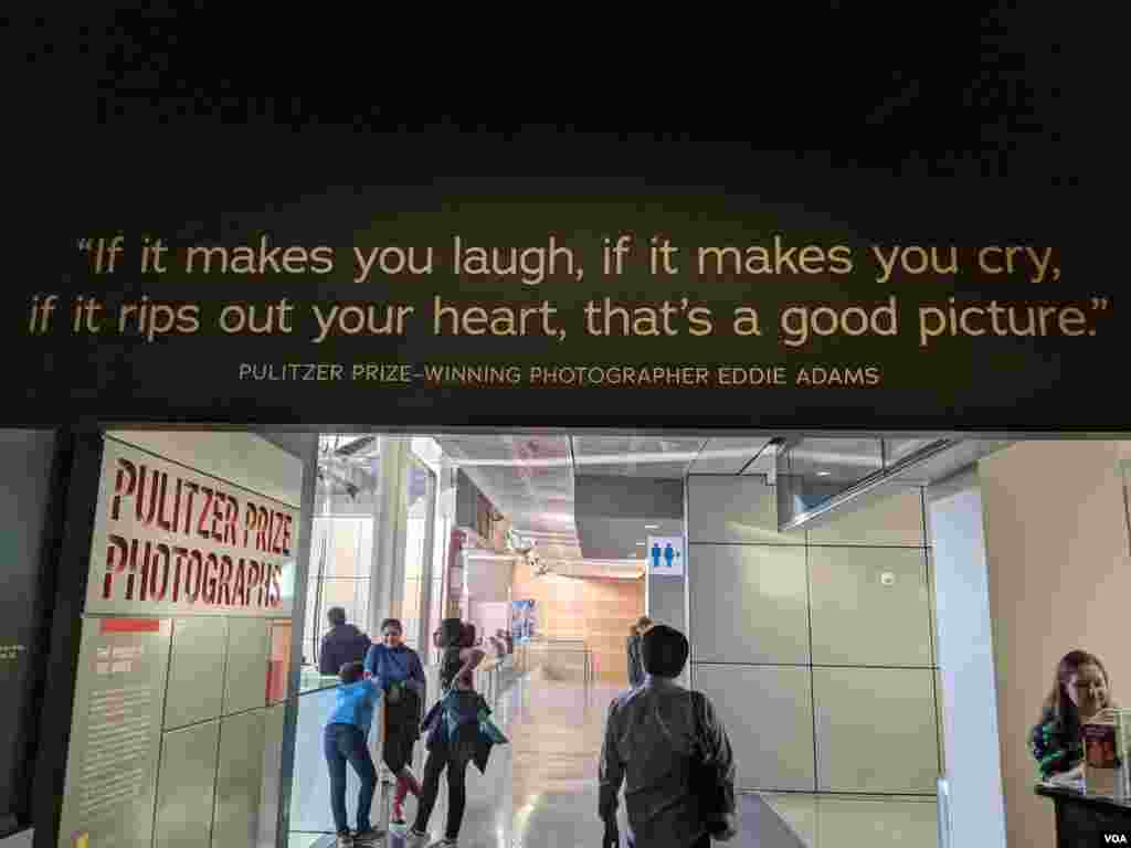
[[[619,691],[599,684],[586,690],[575,683],[517,681],[495,715],[510,744],[495,747],[486,773],[474,765],[468,769],[460,848],[599,845],[597,761],[608,703]],[[446,796],[441,781],[430,827],[433,838],[443,833]],[[740,802],[743,832],[731,846],[936,848],[932,799],[783,794],[744,795]],[[412,799],[407,812],[409,817],[415,812]],[[292,840],[291,848],[310,848],[313,841]]]

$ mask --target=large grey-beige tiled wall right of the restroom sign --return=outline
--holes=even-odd
[[[933,798],[922,488],[779,533],[766,478],[691,475],[688,537],[692,685],[729,715],[739,787]]]

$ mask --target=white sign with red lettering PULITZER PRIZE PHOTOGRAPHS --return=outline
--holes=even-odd
[[[105,440],[87,613],[290,617],[299,511]]]

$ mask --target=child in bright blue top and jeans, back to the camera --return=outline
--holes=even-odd
[[[326,722],[322,749],[330,770],[330,806],[338,831],[338,848],[377,845],[382,836],[373,830],[369,814],[377,790],[377,767],[369,753],[366,738],[373,724],[373,709],[380,698],[375,680],[365,678],[361,663],[346,663],[338,673],[338,687],[334,710]],[[346,824],[346,762],[361,780],[357,794],[357,831],[349,832]]]

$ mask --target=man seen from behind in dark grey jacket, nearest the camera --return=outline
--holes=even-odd
[[[608,708],[601,752],[598,814],[615,845],[624,785],[630,848],[710,848],[737,833],[735,764],[710,701],[675,683],[690,652],[677,630],[657,624],[640,638],[644,685]]]

